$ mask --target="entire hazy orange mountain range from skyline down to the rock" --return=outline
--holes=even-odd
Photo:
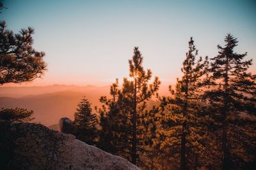
[[[61,117],[73,119],[77,104],[83,96],[92,103],[93,109],[94,106],[100,105],[100,96],[108,95],[108,86],[0,87],[0,107],[33,110],[35,122],[49,126],[57,124]]]

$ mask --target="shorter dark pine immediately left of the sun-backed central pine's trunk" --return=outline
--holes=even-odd
[[[111,99],[100,97],[102,108],[100,113],[99,148],[106,152],[131,158],[131,120],[129,118],[129,102],[118,89],[118,80],[111,85]],[[130,116],[131,117],[131,116]]]

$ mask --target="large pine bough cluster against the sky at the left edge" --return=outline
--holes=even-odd
[[[44,52],[33,48],[34,29],[21,29],[18,34],[6,30],[6,22],[0,22],[0,85],[22,83],[40,78],[46,70]]]

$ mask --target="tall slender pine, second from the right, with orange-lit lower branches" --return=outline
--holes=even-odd
[[[208,60],[206,58],[202,62],[202,57],[199,57],[196,62],[197,55],[198,50],[191,38],[181,69],[183,76],[180,80],[177,79],[175,90],[170,86],[173,96],[161,99],[164,111],[161,113],[159,139],[163,138],[164,142],[161,142],[159,147],[166,150],[174,162],[177,161],[177,156],[180,156],[180,166],[177,167],[180,169],[196,169],[205,163],[204,156],[209,155],[204,142],[208,134],[203,126],[204,118],[200,117],[200,85]]]

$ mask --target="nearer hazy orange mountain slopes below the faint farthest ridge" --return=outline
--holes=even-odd
[[[34,94],[23,97],[0,97],[0,108],[25,108],[33,110],[35,122],[44,125],[57,124],[61,117],[74,119],[77,104],[85,96],[92,109],[100,106],[100,96],[108,96],[108,90],[88,90],[87,92],[75,92],[66,90],[47,94]],[[93,110],[94,111],[94,110]]]

